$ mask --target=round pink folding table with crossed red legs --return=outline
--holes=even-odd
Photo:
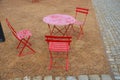
[[[62,35],[66,35],[68,29],[75,23],[76,20],[69,15],[52,14],[44,17],[43,21],[48,24],[51,35],[54,33],[55,29],[57,29],[57,31]],[[51,28],[51,26],[53,26],[53,28]],[[65,28],[65,31],[63,32],[61,29],[59,29],[60,27]]]

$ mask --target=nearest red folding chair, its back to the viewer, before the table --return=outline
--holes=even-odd
[[[64,68],[64,66],[53,65],[53,64],[55,64],[55,63],[53,63],[54,58],[64,58],[66,60],[65,61],[65,69],[67,71],[68,66],[69,66],[68,53],[70,50],[70,42],[71,42],[72,37],[46,35],[45,38],[48,43],[49,52],[50,52],[49,70],[51,70],[52,67]]]

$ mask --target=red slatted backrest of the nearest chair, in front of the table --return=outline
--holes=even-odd
[[[46,41],[49,42],[67,42],[70,44],[71,42],[71,36],[49,36],[45,35]]]

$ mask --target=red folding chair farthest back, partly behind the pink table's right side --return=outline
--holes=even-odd
[[[83,26],[85,25],[89,9],[76,7],[75,11],[76,11],[76,14],[75,14],[76,22],[74,24],[78,25],[80,27],[80,30],[78,31],[78,34],[79,34],[78,39],[79,39],[82,35],[84,35]],[[78,13],[81,15],[78,16]],[[74,28],[73,28],[73,30],[74,30]]]

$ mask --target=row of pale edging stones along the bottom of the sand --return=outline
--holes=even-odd
[[[13,79],[9,79],[13,80]],[[57,76],[53,78],[51,75],[49,76],[25,76],[24,78],[15,78],[14,80],[113,80],[110,75],[102,74],[102,75],[79,75],[77,77],[75,76],[67,76],[67,77],[61,77]]]

